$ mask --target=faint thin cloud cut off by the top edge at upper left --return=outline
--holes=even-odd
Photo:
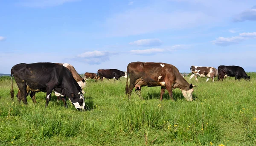
[[[19,5],[26,7],[50,7],[78,0],[21,0]]]

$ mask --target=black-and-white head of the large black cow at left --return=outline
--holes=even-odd
[[[79,92],[76,94],[70,93],[69,97],[70,102],[76,107],[77,110],[84,110],[85,103],[84,103],[84,95]]]

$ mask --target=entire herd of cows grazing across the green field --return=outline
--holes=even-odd
[[[191,66],[190,70],[192,75],[189,80],[194,76],[196,81],[198,81],[198,76],[207,77],[206,81],[210,78],[214,81],[216,76],[218,76],[218,80],[222,81],[224,78],[232,76],[235,76],[235,79],[250,80],[250,76],[247,76],[244,69],[239,66],[221,65],[218,67],[218,70],[214,67]],[[179,88],[182,91],[187,101],[193,100],[192,93],[195,85],[189,84],[175,66],[167,63],[131,62],[127,66],[127,72],[117,69],[100,69],[97,74],[85,73],[85,78],[82,78],[75,68],[67,63],[20,63],[11,69],[11,78],[15,78],[18,86],[16,96],[19,102],[22,100],[24,104],[27,104],[26,97],[30,95],[32,101],[36,103],[35,93],[46,92],[45,106],[47,107],[54,90],[54,94],[58,97],[58,100],[62,99],[65,107],[67,107],[67,96],[77,110],[85,109],[83,88],[87,79],[95,79],[95,81],[103,80],[104,78],[118,80],[122,76],[127,78],[125,94],[129,98],[134,87],[138,91],[137,93],[140,93],[143,86],[161,86],[161,101],[165,90],[168,90],[170,98],[173,100],[172,89],[175,88]],[[13,97],[12,81],[11,98],[13,99]]]

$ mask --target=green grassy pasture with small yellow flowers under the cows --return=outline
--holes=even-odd
[[[252,146],[256,145],[256,73],[250,81],[205,82],[193,78],[189,102],[179,89],[175,101],[160,87],[142,87],[143,99],[133,92],[125,96],[126,79],[87,81],[85,103],[80,112],[55,95],[45,108],[46,93],[37,93],[37,104],[10,98],[10,77],[0,78],[0,145],[38,146]]]

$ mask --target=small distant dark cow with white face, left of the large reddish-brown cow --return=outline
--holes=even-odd
[[[98,76],[95,81],[105,77],[106,79],[116,79],[118,80],[120,77],[124,76],[127,78],[127,73],[117,69],[108,69],[108,70],[98,70]]]

